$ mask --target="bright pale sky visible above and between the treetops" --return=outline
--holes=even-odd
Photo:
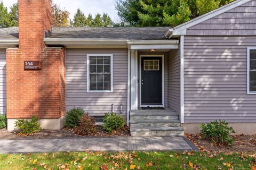
[[[2,0],[4,5],[9,7],[17,2],[17,0]],[[52,0],[55,4],[60,5],[70,12],[69,18],[73,19],[77,8],[80,8],[87,16],[91,13],[93,16],[97,13],[107,13],[110,18],[118,22],[119,18],[115,10],[115,0]]]

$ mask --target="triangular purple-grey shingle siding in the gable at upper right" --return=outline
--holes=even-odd
[[[250,1],[214,18],[194,25],[187,35],[246,36],[256,35],[256,1]],[[221,44],[221,42],[219,42]],[[219,44],[219,45],[220,45]],[[219,46],[216,45],[216,46]]]

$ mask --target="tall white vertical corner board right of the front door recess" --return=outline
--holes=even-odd
[[[180,123],[184,123],[184,36],[180,36]]]

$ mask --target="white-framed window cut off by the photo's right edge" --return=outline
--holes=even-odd
[[[256,47],[247,47],[247,94],[256,94]]]

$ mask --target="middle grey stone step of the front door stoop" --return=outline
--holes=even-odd
[[[131,128],[179,127],[180,120],[130,120]]]

